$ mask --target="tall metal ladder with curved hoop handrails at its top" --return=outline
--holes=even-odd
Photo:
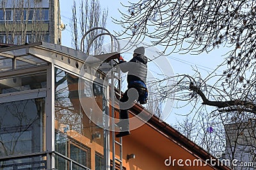
[[[102,30],[104,30],[104,31],[106,31],[106,32],[104,32],[104,33],[100,33],[100,34],[97,34],[91,41],[90,41],[90,43],[88,44],[88,48],[87,48],[87,50],[86,50],[86,53],[89,53],[89,51],[90,51],[90,46],[92,46],[92,43],[93,43],[93,41],[95,40],[95,39],[97,39],[97,38],[99,38],[100,36],[105,36],[105,35],[109,35],[110,36],[110,38],[111,38],[111,52],[113,52],[113,38],[115,38],[115,36],[113,36],[107,29],[105,29],[105,28],[102,28],[102,27],[95,27],[95,28],[93,28],[93,29],[90,29],[90,30],[88,30],[87,32],[85,32],[85,34],[83,35],[83,38],[81,39],[81,51],[82,51],[82,49],[83,49],[83,41],[84,41],[84,38],[86,38],[86,36],[91,32],[91,31],[94,31],[94,30],[96,30],[96,29],[102,29]],[[119,42],[118,42],[118,40],[115,38],[115,40],[116,40],[116,42],[117,42],[117,44],[118,44],[118,52],[120,52],[120,44],[119,44]],[[117,95],[118,95],[118,97],[119,97],[119,99],[120,99],[120,97],[121,97],[121,80],[120,80],[120,69],[118,69],[118,70],[116,70],[116,71],[114,71],[113,70],[113,67],[114,67],[114,60],[112,59],[111,61],[110,61],[110,63],[111,63],[111,102],[113,103],[112,105],[112,110],[111,110],[111,115],[108,113],[108,115],[109,115],[109,117],[110,118],[112,118],[112,121],[109,121],[109,122],[111,122],[112,124],[111,124],[111,126],[112,126],[112,167],[113,167],[113,170],[117,170],[116,169],[116,163],[118,162],[119,163],[119,165],[120,165],[120,170],[122,170],[123,169],[123,162],[122,162],[122,160],[123,160],[123,157],[122,157],[122,154],[123,154],[123,146],[122,146],[122,138],[119,138],[118,140],[116,140],[116,137],[115,137],[115,80],[117,80],[118,81],[118,87],[117,87],[117,90],[118,90],[118,92],[117,92]],[[115,73],[116,74],[118,74],[118,76],[116,76],[115,75]],[[110,112],[110,111],[109,111]],[[119,117],[120,117],[120,113],[119,113]],[[109,147],[109,141],[110,141],[110,138],[109,138],[110,136],[109,136],[109,132],[108,132],[108,134],[106,135],[106,148],[104,148],[104,152],[106,153],[106,152],[110,152],[110,147]],[[118,148],[119,148],[119,158],[118,157],[116,157],[116,146],[118,146]],[[108,153],[108,154],[104,154],[104,155],[106,155],[106,157],[105,157],[105,159],[107,159],[107,160],[105,160],[105,164],[106,164],[106,169],[107,170],[110,170],[110,157],[109,157],[109,154],[110,153]]]

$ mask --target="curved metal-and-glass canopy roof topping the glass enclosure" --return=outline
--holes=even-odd
[[[0,72],[42,66],[49,62],[61,67],[71,66],[74,69],[81,69],[83,64],[86,64],[106,71],[106,62],[117,59],[118,56],[117,52],[92,56],[66,46],[38,42],[0,48]]]

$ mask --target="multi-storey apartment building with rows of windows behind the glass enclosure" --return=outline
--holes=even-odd
[[[1,0],[0,43],[61,44],[59,0]]]

